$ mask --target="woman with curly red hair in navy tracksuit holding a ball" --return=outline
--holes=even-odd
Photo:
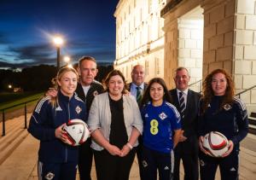
[[[221,179],[238,179],[239,142],[247,136],[247,109],[235,97],[235,85],[229,73],[216,69],[203,82],[199,111],[199,142],[202,180],[213,180],[219,165]],[[218,131],[229,140],[229,149],[221,158],[211,157],[203,148],[203,136]]]

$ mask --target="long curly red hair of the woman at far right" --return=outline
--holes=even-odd
[[[212,73],[209,73],[207,75],[207,78],[203,81],[202,86],[202,99],[203,99],[203,105],[201,108],[201,113],[205,113],[207,110],[208,105],[212,101],[212,97],[214,96],[214,92],[212,90],[212,77],[217,74],[222,73],[224,74],[225,78],[227,79],[227,88],[224,94],[223,102],[220,104],[220,108],[224,106],[224,104],[232,103],[233,98],[235,96],[235,84],[230,76],[229,73],[227,73],[224,69],[215,69],[212,71]]]

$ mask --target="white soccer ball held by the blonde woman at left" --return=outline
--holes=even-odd
[[[67,144],[72,146],[79,146],[90,137],[88,126],[81,119],[69,120],[63,130],[67,131]]]

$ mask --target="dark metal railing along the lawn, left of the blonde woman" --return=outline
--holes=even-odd
[[[27,103],[29,103],[29,102],[35,102],[35,101],[37,101],[37,100],[38,100],[38,98],[37,98],[37,99],[33,99],[33,100],[31,100],[31,101],[28,101],[28,102],[21,102],[21,103],[19,103],[19,104],[15,104],[14,106],[5,107],[5,108],[0,109],[0,112],[2,112],[2,114],[3,114],[3,119],[2,119],[2,124],[3,124],[2,136],[5,136],[5,112],[6,112],[6,110],[8,110],[8,109],[10,109],[10,108],[13,108],[13,107],[19,107],[19,106],[21,106],[21,105],[24,105],[24,114],[25,114],[24,129],[26,129],[26,128],[27,128],[27,122],[26,122],[26,105],[27,105]]]

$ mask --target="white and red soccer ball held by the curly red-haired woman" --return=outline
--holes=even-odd
[[[212,157],[221,157],[229,149],[228,139],[218,131],[209,132],[204,136],[202,145]]]

